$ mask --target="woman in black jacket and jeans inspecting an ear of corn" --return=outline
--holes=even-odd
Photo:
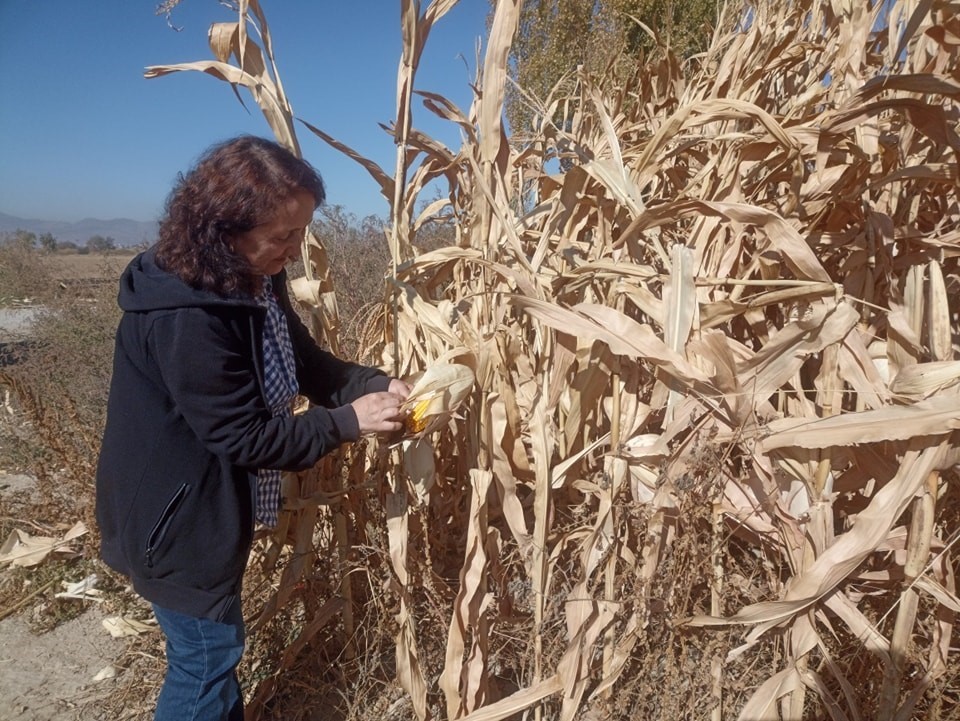
[[[166,636],[158,721],[243,718],[240,584],[280,471],[402,425],[409,387],[318,348],[291,308],[284,265],[323,201],[286,149],[227,141],[180,177],[120,281],[97,521]],[[297,394],[314,405],[294,416]]]

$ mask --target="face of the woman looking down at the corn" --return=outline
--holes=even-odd
[[[303,234],[313,220],[313,194],[296,191],[273,217],[237,236],[234,249],[258,275],[279,273],[288,260],[300,257]]]

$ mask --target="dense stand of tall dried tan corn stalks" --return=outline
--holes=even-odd
[[[214,60],[147,72],[245,86],[281,142],[363,164],[391,202],[368,353],[473,377],[425,430],[288,479],[252,625],[293,620],[248,719],[333,627],[345,663],[395,653],[356,718],[960,718],[960,3],[729,4],[703,55],[530,98],[522,147],[520,0],[471,107],[416,85],[454,4],[401,0],[394,168],[295,119],[257,0]],[[437,222],[455,242],[421,251]],[[311,234],[304,257],[336,350]]]

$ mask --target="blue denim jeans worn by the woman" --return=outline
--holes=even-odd
[[[167,638],[167,675],[154,721],[243,721],[237,664],[243,655],[238,598],[221,621],[153,606]]]

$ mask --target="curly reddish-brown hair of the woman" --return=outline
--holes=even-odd
[[[298,190],[326,198],[320,174],[277,143],[242,135],[208,149],[167,198],[157,263],[189,286],[223,297],[254,295],[260,278],[234,239],[273,214]]]

